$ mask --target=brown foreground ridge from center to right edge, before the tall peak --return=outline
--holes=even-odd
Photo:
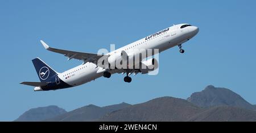
[[[159,106],[163,102],[168,104]],[[256,111],[234,106],[202,108],[184,99],[161,97],[113,111],[98,121],[256,121]]]

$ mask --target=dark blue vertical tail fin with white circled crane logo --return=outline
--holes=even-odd
[[[39,58],[32,60],[36,73],[38,73],[38,77],[41,82],[48,82],[51,77],[56,76],[57,72],[53,70],[50,66],[48,66],[44,61]]]

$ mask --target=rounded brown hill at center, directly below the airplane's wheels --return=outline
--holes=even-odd
[[[182,121],[198,110],[199,107],[185,99],[160,97],[106,114],[99,121]]]

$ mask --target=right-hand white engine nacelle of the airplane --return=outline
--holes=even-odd
[[[142,74],[146,74],[155,69],[158,69],[158,60],[154,58],[142,61],[141,65],[139,66],[139,70],[141,71]]]

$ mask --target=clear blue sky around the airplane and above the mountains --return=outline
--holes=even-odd
[[[88,104],[139,103],[152,98],[187,98],[207,85],[225,87],[256,104],[255,1],[1,1],[0,120],[14,120],[32,107],[73,110]],[[39,81],[32,59],[57,72],[81,64],[46,51],[52,47],[96,53],[119,48],[172,24],[190,23],[199,34],[160,53],[159,74],[121,74],[57,91],[34,92],[22,81]]]

